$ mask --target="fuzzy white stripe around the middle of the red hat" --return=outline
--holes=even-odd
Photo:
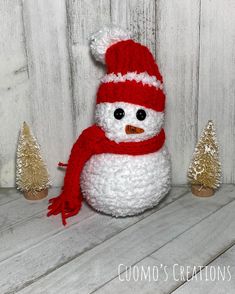
[[[137,83],[142,83],[143,85],[149,85],[153,86],[156,89],[163,89],[163,84],[157,80],[155,76],[150,76],[147,72],[128,72],[125,75],[122,75],[121,73],[118,74],[106,74],[102,79],[102,83],[119,83],[119,82],[125,82],[125,81],[136,81]]]

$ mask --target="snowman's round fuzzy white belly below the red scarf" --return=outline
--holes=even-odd
[[[85,164],[81,189],[96,210],[128,216],[154,207],[170,190],[168,151],[140,156],[100,154]]]

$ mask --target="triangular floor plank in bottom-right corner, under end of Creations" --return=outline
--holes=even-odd
[[[211,274],[210,269],[204,269],[201,274],[197,274],[193,277],[192,280],[185,283],[183,286],[178,288],[176,291],[172,292],[174,294],[234,294],[235,289],[235,246],[228,249],[225,253],[220,255],[216,260],[208,265],[208,267],[212,268]],[[225,267],[225,275],[224,280],[219,272],[219,268],[222,271],[222,275],[224,273]],[[207,271],[207,273],[206,273]],[[209,272],[209,274],[208,274]],[[214,272],[216,273],[214,275]],[[201,278],[202,277],[202,278]],[[214,279],[215,277],[215,279]]]

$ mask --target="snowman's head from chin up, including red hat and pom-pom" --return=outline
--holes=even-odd
[[[164,121],[165,94],[148,48],[112,26],[92,36],[91,51],[107,67],[97,92],[96,124],[116,142],[138,142],[158,134]]]

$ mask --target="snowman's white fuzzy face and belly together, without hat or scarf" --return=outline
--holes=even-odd
[[[139,142],[158,134],[164,113],[125,102],[100,103],[96,123],[115,142]],[[127,133],[127,126],[141,130]],[[146,155],[93,155],[81,174],[81,190],[96,210],[113,216],[143,212],[158,204],[171,182],[166,146]]]

